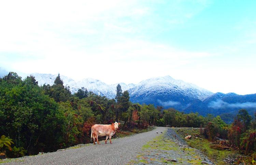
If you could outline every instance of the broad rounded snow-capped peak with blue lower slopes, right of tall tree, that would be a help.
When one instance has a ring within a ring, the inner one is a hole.
[[[144,80],[129,89],[130,100],[139,103],[153,103],[183,110],[195,100],[204,100],[213,93],[194,84],[175,80],[170,76]]]

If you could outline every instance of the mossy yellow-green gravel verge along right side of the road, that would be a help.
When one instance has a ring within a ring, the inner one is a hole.
[[[200,150],[189,147],[172,128],[148,142],[142,149],[143,151],[137,155],[137,159],[131,161],[130,164],[214,165]]]

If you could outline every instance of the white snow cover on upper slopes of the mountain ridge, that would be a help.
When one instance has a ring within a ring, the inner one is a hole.
[[[32,75],[38,81],[39,85],[53,85],[54,80],[58,76],[57,74],[52,75],[42,73],[32,73]],[[85,87],[88,91],[91,91],[95,94],[99,94],[110,99],[115,98],[116,86],[118,83],[108,85],[100,80],[92,78],[86,78],[79,81],[75,81],[64,75],[60,75],[60,78],[63,81],[63,85],[70,86],[71,93],[75,93],[78,89]],[[129,90],[131,97],[152,95],[153,92],[165,94],[167,91],[169,93],[171,91],[183,93],[188,97],[200,100],[203,100],[212,95],[212,93],[206,89],[200,88],[194,84],[186,83],[182,80],[175,80],[170,76],[150,78],[147,80],[143,80],[138,84],[119,84],[121,85],[123,91]]]

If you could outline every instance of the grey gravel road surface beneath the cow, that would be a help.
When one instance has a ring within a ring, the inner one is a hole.
[[[166,127],[156,127],[156,129],[127,136],[123,138],[112,139],[112,143],[100,145],[89,145],[81,148],[67,149],[58,152],[44,153],[35,156],[18,158],[17,162],[5,164],[127,164],[130,160],[136,159],[138,152],[148,141],[160,135],[160,132],[167,130]],[[156,133],[158,131],[158,134]],[[20,162],[18,162],[21,160]]]

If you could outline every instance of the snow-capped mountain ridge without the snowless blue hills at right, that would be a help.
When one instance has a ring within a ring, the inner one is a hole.
[[[57,75],[32,73],[39,85],[54,83]],[[64,85],[70,87],[71,93],[75,93],[78,89],[85,87],[97,95],[105,96],[107,98],[115,98],[116,84],[108,85],[96,79],[82,79],[74,81],[71,78],[60,75]],[[122,90],[128,90],[130,93],[130,100],[132,102],[161,105],[165,108],[173,107],[178,110],[183,110],[195,100],[204,100],[213,93],[200,88],[194,84],[186,83],[181,80],[175,80],[170,76],[151,78],[141,81],[139,84],[125,84],[119,83]]]

